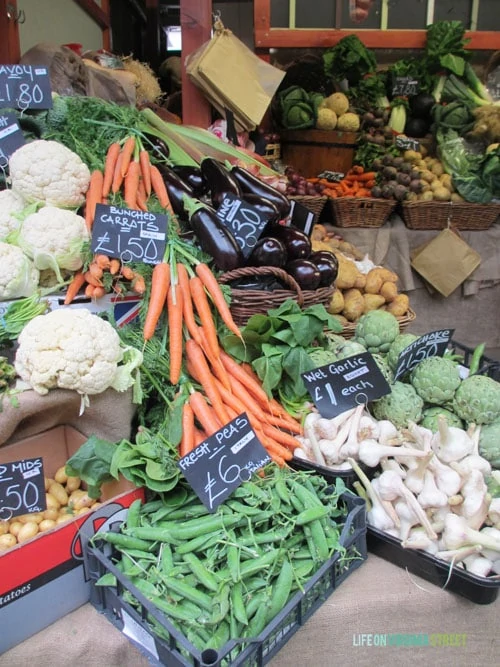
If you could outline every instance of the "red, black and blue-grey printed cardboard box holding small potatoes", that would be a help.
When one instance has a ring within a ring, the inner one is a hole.
[[[0,447],[0,465],[42,457],[48,477],[85,440],[74,428],[57,426]],[[90,599],[83,557],[86,541],[114,522],[124,521],[132,501],[144,499],[144,490],[125,479],[106,483],[102,491],[104,503],[96,510],[0,552],[0,654]]]

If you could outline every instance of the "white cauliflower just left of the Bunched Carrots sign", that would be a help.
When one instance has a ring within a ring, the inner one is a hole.
[[[60,269],[77,271],[83,265],[82,248],[89,238],[81,215],[44,206],[24,219],[13,242],[33,259],[37,269],[52,269],[62,281]]]

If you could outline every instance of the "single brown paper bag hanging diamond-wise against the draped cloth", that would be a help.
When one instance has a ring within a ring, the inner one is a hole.
[[[481,263],[481,256],[454,230],[443,229],[411,253],[411,266],[434,289],[449,296]]]

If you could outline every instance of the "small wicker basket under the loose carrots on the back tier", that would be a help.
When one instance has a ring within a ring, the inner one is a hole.
[[[337,227],[382,227],[396,203],[392,199],[374,197],[330,199],[333,223]]]

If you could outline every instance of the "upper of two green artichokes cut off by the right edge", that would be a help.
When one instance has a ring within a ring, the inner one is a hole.
[[[455,392],[453,411],[468,424],[491,424],[500,418],[500,383],[470,375]]]

